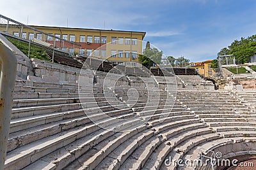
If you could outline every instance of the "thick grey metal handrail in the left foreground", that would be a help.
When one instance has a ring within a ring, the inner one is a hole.
[[[17,59],[11,50],[1,44],[0,64],[0,169],[4,169],[10,129],[13,89],[17,72]]]

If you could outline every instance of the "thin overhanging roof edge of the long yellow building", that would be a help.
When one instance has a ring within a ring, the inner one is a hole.
[[[122,31],[122,30],[113,30],[113,29],[86,29],[86,28],[77,28],[77,27],[52,27],[52,26],[41,26],[41,25],[29,25],[30,27],[42,27],[44,29],[68,29],[68,30],[84,30],[84,31],[92,31],[92,32],[123,32],[123,33],[131,33],[131,34],[141,34],[142,39],[145,37],[146,32],[142,31]]]

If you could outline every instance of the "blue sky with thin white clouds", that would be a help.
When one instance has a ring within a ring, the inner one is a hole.
[[[91,0],[1,2],[0,13],[29,25],[147,32],[165,55],[215,59],[234,39],[256,34],[255,0]],[[104,24],[105,23],[105,24]]]

